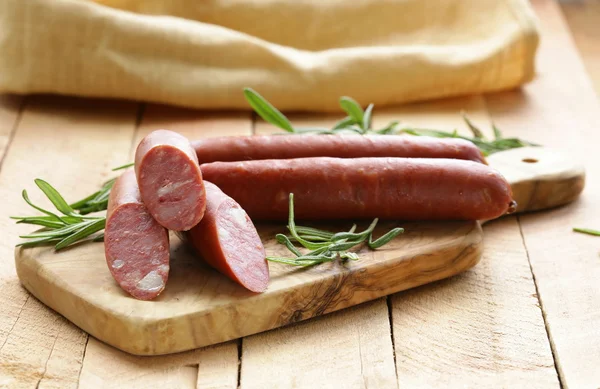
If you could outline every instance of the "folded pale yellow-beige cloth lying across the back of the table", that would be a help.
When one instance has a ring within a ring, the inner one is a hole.
[[[0,91],[338,111],[519,86],[538,39],[527,0],[2,0]]]

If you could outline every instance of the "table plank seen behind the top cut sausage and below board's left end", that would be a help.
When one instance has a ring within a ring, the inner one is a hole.
[[[132,138],[129,160],[135,145],[149,132],[165,128],[189,139],[200,136],[249,135],[250,113],[193,111],[149,104]],[[179,353],[173,357],[136,357],[95,339],[88,343],[80,388],[231,388],[238,384],[240,341]]]

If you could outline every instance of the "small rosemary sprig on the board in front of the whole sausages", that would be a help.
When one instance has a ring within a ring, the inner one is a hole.
[[[338,258],[342,261],[356,261],[359,259],[358,255],[348,250],[363,243],[366,243],[371,249],[376,249],[389,243],[404,232],[403,228],[394,228],[380,238],[373,240],[373,230],[377,222],[378,219],[373,220],[371,225],[362,232],[355,232],[356,224],[349,231],[338,233],[297,226],[294,221],[294,194],[290,193],[287,226],[290,235],[277,234],[275,238],[279,244],[285,245],[294,254],[294,257],[267,257],[267,260],[294,266],[313,266],[331,262]],[[299,248],[294,246],[293,242],[310,251],[303,254]]]

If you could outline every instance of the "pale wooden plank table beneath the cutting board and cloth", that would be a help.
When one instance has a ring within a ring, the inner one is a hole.
[[[538,77],[522,90],[394,109],[417,125],[452,129],[460,110],[482,126],[576,151],[588,182],[579,201],[485,225],[472,270],[283,329],[191,352],[134,357],[89,337],[19,284],[9,215],[29,212],[45,178],[71,199],[131,160],[144,134],[190,137],[269,132],[250,113],[208,113],[122,101],[0,97],[0,387],[396,388],[600,387],[600,111],[592,84],[550,0],[541,19]],[[292,115],[298,122],[336,118]],[[35,195],[34,195],[35,194]]]

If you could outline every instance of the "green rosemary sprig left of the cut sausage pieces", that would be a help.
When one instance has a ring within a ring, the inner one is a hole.
[[[56,250],[68,247],[85,239],[98,239],[94,234],[103,230],[106,218],[103,216],[84,216],[70,206],[63,196],[49,183],[39,178],[35,184],[46,195],[56,210],[62,215],[39,207],[31,202],[26,190],[23,190],[23,199],[34,209],[45,216],[11,216],[18,224],[33,224],[42,226],[41,229],[29,235],[21,235],[27,239],[17,246],[33,247],[53,244]]]

